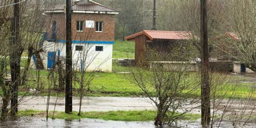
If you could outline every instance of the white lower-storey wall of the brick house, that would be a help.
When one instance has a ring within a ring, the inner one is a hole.
[[[76,51],[75,46],[83,46],[82,51]],[[96,46],[103,46],[103,51],[96,51]],[[45,69],[47,68],[47,52],[60,50],[60,57],[65,58],[66,46],[64,43],[44,42],[45,55],[41,55]],[[112,44],[72,44],[73,69],[80,70],[81,62],[84,61],[83,69],[86,71],[112,72]],[[83,60],[83,61],[81,61]]]

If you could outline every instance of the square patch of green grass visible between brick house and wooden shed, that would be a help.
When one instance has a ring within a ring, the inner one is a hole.
[[[135,43],[115,41],[113,44],[113,58],[134,58]]]

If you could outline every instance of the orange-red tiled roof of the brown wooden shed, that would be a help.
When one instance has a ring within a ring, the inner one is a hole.
[[[133,39],[137,36],[145,35],[149,37],[151,40],[153,39],[191,39],[191,32],[186,31],[153,31],[153,30],[144,30],[142,32],[136,33],[131,36],[125,37],[125,40]]]

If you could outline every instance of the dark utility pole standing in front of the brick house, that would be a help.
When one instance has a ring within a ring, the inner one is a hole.
[[[66,0],[66,89],[65,113],[72,112],[72,35],[71,0]]]

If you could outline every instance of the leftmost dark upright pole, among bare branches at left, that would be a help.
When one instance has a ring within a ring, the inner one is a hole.
[[[12,19],[11,29],[11,50],[10,50],[10,68],[11,68],[11,116],[15,117],[18,112],[18,85],[20,84],[21,73],[21,45],[19,39],[19,0],[14,0],[14,18]]]

